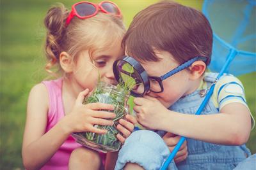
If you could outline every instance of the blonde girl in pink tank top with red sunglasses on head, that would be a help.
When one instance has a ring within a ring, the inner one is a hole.
[[[50,72],[56,66],[61,77],[31,89],[22,159],[26,169],[68,169],[70,153],[81,146],[70,136],[72,132],[104,134],[105,130],[93,125],[113,125],[109,119],[115,114],[100,111],[113,110],[113,106],[82,102],[99,76],[115,83],[112,65],[124,52],[121,41],[125,28],[120,10],[109,1],[76,3],[70,12],[61,4],[48,11],[44,22],[46,69]],[[125,118],[118,130],[127,138],[136,120],[130,115]],[[120,134],[117,138],[122,143],[125,140]],[[86,151],[86,169],[99,169],[99,154]]]

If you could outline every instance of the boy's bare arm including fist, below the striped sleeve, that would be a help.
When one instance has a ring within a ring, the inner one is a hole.
[[[230,103],[220,113],[188,115],[164,108],[157,99],[147,96],[134,99],[138,122],[180,136],[221,145],[241,145],[250,136],[250,111],[244,104]]]

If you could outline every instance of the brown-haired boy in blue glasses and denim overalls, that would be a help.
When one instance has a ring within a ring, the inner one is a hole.
[[[215,82],[218,74],[204,73],[211,61],[212,29],[200,11],[172,1],[152,4],[134,17],[123,43],[150,82],[148,91],[137,88],[145,96],[134,99],[133,109],[138,122],[157,133],[133,132],[118,154],[116,170],[160,169],[175,134],[188,138],[188,157],[168,168],[234,169],[250,156],[244,143],[254,120],[243,85],[230,74]],[[212,83],[210,101],[195,115]],[[248,166],[255,167],[253,159]]]

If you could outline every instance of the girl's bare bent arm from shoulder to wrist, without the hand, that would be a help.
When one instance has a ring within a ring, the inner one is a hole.
[[[45,134],[48,111],[47,89],[38,84],[29,94],[22,159],[26,169],[39,169],[60,148],[69,132],[56,124]]]

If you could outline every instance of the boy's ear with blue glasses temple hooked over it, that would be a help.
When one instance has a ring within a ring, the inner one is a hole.
[[[189,67],[190,69],[190,79],[191,80],[196,80],[204,74],[204,71],[206,69],[206,64],[202,60],[197,60],[193,62],[193,64]]]

